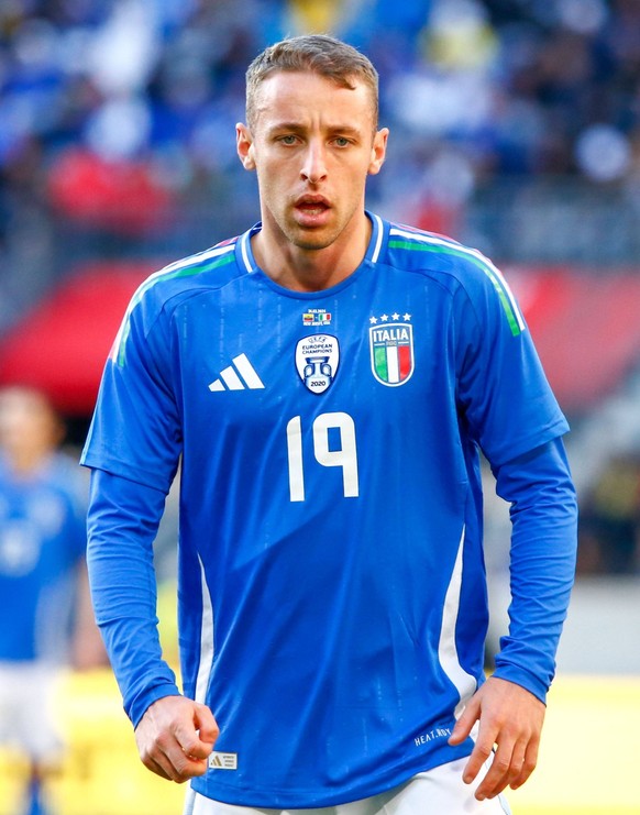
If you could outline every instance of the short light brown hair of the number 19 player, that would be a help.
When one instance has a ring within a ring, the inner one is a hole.
[[[355,88],[361,80],[371,90],[374,129],[378,123],[378,73],[372,62],[352,45],[327,34],[305,34],[269,45],[246,70],[246,123],[257,115],[261,82],[277,70],[310,71],[331,79],[341,88]]]

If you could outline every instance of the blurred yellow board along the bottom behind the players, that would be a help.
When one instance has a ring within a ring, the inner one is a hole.
[[[57,713],[68,739],[49,783],[54,815],[179,815],[186,792],[146,770],[108,669],[70,674]],[[540,763],[509,791],[514,815],[640,815],[640,678],[560,676]],[[15,815],[23,762],[0,753],[0,815]]]

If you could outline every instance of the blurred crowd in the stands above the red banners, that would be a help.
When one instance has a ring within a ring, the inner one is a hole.
[[[394,217],[454,232],[505,176],[640,199],[640,0],[3,0],[0,327],[60,271],[52,216],[104,251],[189,213],[214,214],[209,242],[254,218],[233,139],[244,70],[308,31],[380,71],[390,168],[372,195]]]

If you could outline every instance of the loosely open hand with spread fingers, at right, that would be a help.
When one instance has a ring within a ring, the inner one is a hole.
[[[507,786],[516,790],[531,775],[538,763],[545,709],[529,691],[495,676],[471,697],[449,744],[462,744],[479,722],[477,740],[462,775],[466,784],[483,769],[494,745],[497,747],[490,769],[475,791],[478,801],[493,799]]]

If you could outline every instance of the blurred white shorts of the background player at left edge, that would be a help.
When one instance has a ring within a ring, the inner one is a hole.
[[[53,715],[59,669],[42,662],[0,662],[0,745],[37,763],[55,763],[63,741]]]

